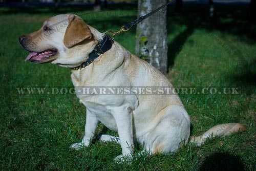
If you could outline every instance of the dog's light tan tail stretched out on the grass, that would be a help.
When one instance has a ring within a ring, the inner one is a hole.
[[[219,124],[211,127],[211,129],[198,137],[191,137],[190,143],[195,143],[200,146],[206,141],[207,138],[224,137],[232,133],[238,133],[245,130],[245,127],[240,123]]]

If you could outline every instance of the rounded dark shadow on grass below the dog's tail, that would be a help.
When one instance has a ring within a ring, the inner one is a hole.
[[[244,164],[238,156],[228,153],[215,153],[204,160],[200,171],[242,171],[245,170]]]

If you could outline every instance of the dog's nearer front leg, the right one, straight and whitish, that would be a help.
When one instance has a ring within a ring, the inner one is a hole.
[[[133,112],[127,106],[122,106],[114,110],[113,117],[116,121],[117,131],[120,138],[120,145],[122,147],[122,155],[117,156],[115,160],[132,158],[133,154]]]

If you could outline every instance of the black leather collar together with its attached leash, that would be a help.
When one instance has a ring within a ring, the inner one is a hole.
[[[79,70],[79,69],[82,69],[84,67],[87,67],[89,66],[93,61],[94,59],[96,59],[97,57],[99,57],[101,54],[105,53],[106,51],[110,50],[111,47],[112,47],[112,44],[114,43],[114,38],[115,38],[115,35],[116,34],[119,34],[121,32],[125,32],[125,31],[128,31],[129,29],[131,29],[132,27],[136,26],[137,24],[139,24],[140,22],[142,22],[142,20],[146,19],[147,17],[153,15],[154,13],[156,13],[157,11],[159,11],[160,9],[166,7],[167,5],[169,5],[170,3],[172,3],[173,0],[171,0],[170,2],[166,3],[165,5],[157,8],[156,10],[146,14],[146,15],[143,15],[137,19],[135,19],[133,22],[131,23],[128,23],[124,26],[121,27],[121,29],[117,32],[113,32],[111,30],[108,30],[104,33],[104,37],[102,38],[102,40],[95,46],[94,48],[94,51],[91,52],[89,54],[89,58],[83,62],[80,66],[78,67],[74,67],[74,68],[71,68],[72,70]],[[111,35],[113,36],[112,38],[110,37],[109,34],[106,34],[110,32]]]

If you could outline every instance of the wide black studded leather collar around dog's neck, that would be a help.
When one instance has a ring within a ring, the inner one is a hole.
[[[72,70],[80,70],[84,67],[87,67],[101,54],[105,53],[106,51],[110,50],[112,47],[112,44],[114,43],[114,40],[106,34],[102,38],[102,40],[95,46],[94,50],[89,54],[89,58],[83,62],[80,66],[71,68]]]

